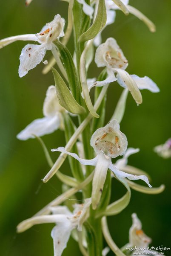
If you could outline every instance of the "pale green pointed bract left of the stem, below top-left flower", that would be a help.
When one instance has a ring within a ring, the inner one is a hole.
[[[52,72],[54,75],[54,81],[56,86],[57,99],[60,105],[65,108],[67,111],[73,114],[82,114],[85,112],[85,109],[81,107],[72,94],[70,93],[66,83],[63,81],[60,74],[52,67]]]

